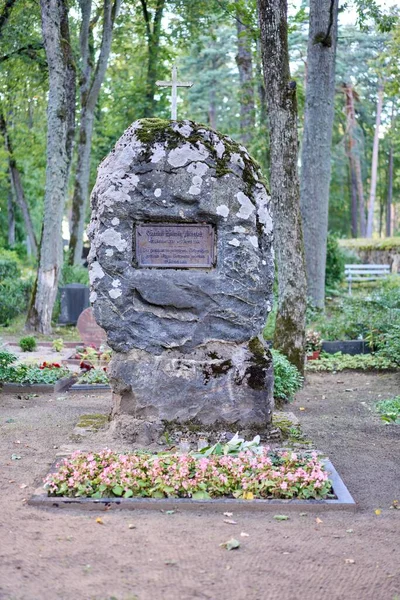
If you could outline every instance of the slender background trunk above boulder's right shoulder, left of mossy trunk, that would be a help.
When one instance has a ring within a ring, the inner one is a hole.
[[[253,85],[253,57],[251,36],[248,28],[240,19],[240,11],[236,13],[237,43],[236,64],[239,71],[239,103],[240,103],[240,138],[244,146],[249,147],[255,128],[255,106]]]

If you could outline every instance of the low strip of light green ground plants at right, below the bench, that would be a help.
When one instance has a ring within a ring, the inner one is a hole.
[[[309,360],[306,364],[307,371],[316,372],[336,372],[355,370],[355,371],[393,371],[398,365],[389,358],[378,356],[377,354],[322,354],[318,360]]]

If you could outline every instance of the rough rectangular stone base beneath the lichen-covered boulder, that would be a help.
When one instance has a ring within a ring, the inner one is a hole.
[[[142,432],[144,423],[149,431],[156,423],[164,429],[194,423],[203,431],[216,426],[265,431],[271,423],[272,358],[259,338],[242,344],[209,342],[187,354],[131,350],[114,356],[109,373],[113,417],[121,433],[127,421],[130,429],[142,424]],[[157,426],[149,442],[160,433]]]

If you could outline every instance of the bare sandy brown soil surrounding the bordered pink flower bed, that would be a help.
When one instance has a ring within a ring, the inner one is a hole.
[[[0,393],[0,599],[400,600],[400,510],[390,508],[400,500],[400,427],[374,412],[399,389],[400,374],[313,374],[289,407],[331,458],[356,513],[299,510],[277,521],[278,508],[233,511],[237,524],[222,511],[28,506],[58,452],[111,445],[106,432],[74,432],[81,415],[108,414],[111,398]],[[228,552],[220,544],[231,537],[240,548]]]

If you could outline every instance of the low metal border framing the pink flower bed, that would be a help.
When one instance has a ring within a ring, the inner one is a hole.
[[[50,473],[54,473],[61,458],[60,455],[53,463]],[[271,511],[285,509],[290,511],[301,510],[307,512],[326,510],[356,510],[357,504],[353,500],[342,478],[327,458],[322,459],[325,469],[330,474],[335,499],[328,500],[285,500],[274,498],[271,500],[237,500],[236,498],[213,498],[211,500],[193,500],[192,498],[69,498],[66,496],[48,496],[43,487],[35,490],[28,504],[39,508],[64,508],[81,509],[87,511],[119,510],[175,510],[175,511]]]

